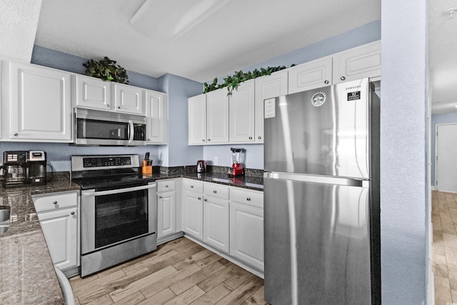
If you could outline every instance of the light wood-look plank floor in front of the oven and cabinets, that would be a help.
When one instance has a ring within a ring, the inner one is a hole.
[[[263,279],[184,237],[70,283],[76,304],[266,304]]]

